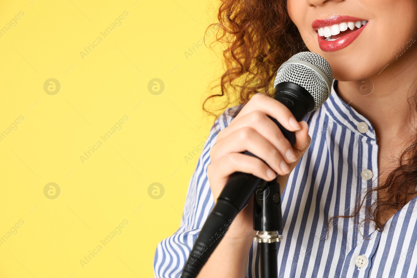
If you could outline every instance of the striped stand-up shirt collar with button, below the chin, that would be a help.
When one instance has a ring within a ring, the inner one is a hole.
[[[325,110],[327,110],[332,119],[338,124],[344,125],[358,135],[376,140],[375,130],[371,122],[337,95],[336,90],[334,89],[336,86],[337,80],[334,79],[332,92],[330,93],[329,98],[323,103]],[[365,133],[362,133],[359,130],[364,131],[364,128],[366,127],[365,124],[367,125],[368,130]]]

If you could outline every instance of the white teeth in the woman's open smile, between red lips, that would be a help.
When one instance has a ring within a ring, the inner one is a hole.
[[[335,41],[339,38],[342,38],[345,35],[348,35],[356,30],[362,28],[366,25],[368,20],[358,20],[358,21],[347,21],[340,24],[334,24],[332,26],[326,26],[318,28],[316,31],[320,37],[323,37],[325,41]]]

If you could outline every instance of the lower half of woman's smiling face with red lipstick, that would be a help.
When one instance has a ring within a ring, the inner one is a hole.
[[[307,48],[329,61],[337,80],[368,78],[415,57],[416,0],[288,0],[287,8]]]

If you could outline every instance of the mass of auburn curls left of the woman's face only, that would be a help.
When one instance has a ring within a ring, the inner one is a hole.
[[[225,105],[215,110],[223,111],[232,96],[245,103],[255,93],[269,93],[279,66],[297,49],[306,51],[289,18],[286,0],[222,0],[217,18],[219,23],[208,26],[206,32],[216,28],[215,42],[226,46],[226,71],[221,76],[221,93],[203,103],[203,109],[211,114],[206,109],[211,98],[226,97]]]

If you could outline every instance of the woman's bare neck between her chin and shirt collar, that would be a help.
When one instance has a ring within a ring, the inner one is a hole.
[[[366,80],[338,82],[339,97],[372,123],[377,138],[404,142],[415,132],[417,51],[408,51]]]

